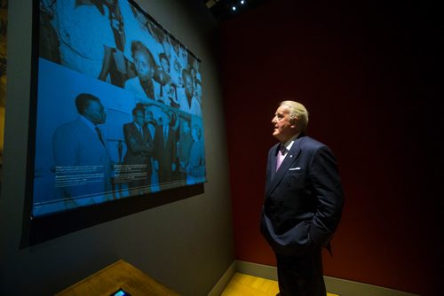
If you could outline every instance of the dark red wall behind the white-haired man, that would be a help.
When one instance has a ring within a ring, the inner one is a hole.
[[[258,221],[270,121],[289,96],[309,110],[308,134],[335,152],[345,189],[325,275],[435,295],[443,126],[433,7],[359,3],[271,0],[222,23],[236,259],[275,265]]]

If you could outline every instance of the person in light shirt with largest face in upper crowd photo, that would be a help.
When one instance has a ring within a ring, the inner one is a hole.
[[[151,51],[143,43],[134,41],[131,53],[137,76],[125,82],[125,90],[134,92],[138,103],[148,104],[149,99],[159,99],[160,84],[153,79],[156,66]]]

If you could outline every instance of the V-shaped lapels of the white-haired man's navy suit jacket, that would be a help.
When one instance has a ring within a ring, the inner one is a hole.
[[[281,183],[282,178],[288,174],[289,167],[297,160],[297,157],[299,156],[299,153],[301,152],[301,137],[298,137],[293,145],[291,146],[291,149],[287,153],[287,156],[281,163],[281,167],[276,171],[276,159],[277,159],[277,152],[273,153],[272,157],[272,178],[270,186],[268,187],[268,190],[266,191],[266,196],[270,195],[274,189]],[[279,144],[276,146],[276,150],[278,149]]]

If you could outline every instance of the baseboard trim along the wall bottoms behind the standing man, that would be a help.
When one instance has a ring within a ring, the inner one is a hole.
[[[234,273],[241,272],[254,277],[277,280],[277,271],[273,266],[252,263],[247,261],[233,261],[218,283],[214,286],[208,296],[219,296],[224,292],[226,284],[230,282]],[[362,284],[336,277],[324,277],[327,291],[340,296],[418,296],[417,294],[402,292],[373,284]]]

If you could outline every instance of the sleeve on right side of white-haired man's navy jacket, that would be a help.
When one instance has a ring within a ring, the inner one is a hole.
[[[317,199],[309,234],[314,245],[327,245],[337,229],[344,206],[337,160],[329,147],[322,146],[313,154],[309,171]]]

